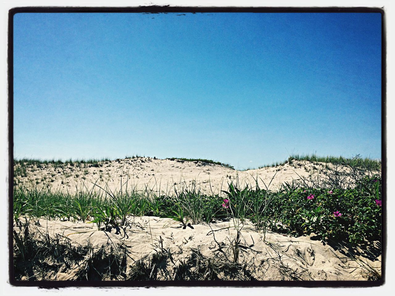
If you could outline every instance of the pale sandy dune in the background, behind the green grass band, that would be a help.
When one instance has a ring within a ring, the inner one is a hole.
[[[207,193],[217,193],[228,188],[228,182],[238,178],[241,184],[255,186],[255,180],[261,188],[266,184],[276,187],[282,182],[316,174],[325,168],[324,163],[314,164],[308,161],[293,161],[279,167],[266,167],[246,171],[232,170],[220,165],[212,165],[200,161],[180,161],[169,159],[153,159],[139,157],[134,159],[117,159],[104,161],[98,167],[89,164],[32,165],[26,169],[26,177],[17,177],[17,184],[38,184],[51,186],[73,192],[76,188],[92,188],[94,183],[101,187],[108,186],[112,191],[136,186],[144,189],[148,186],[157,193],[167,192],[174,187],[196,184]],[[273,180],[272,180],[273,178]],[[99,187],[96,186],[96,189]]]

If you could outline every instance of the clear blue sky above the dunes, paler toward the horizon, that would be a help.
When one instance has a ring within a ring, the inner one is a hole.
[[[19,13],[14,157],[381,158],[379,13]]]

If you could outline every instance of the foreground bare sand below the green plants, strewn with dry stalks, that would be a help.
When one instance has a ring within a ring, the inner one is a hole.
[[[126,274],[130,274],[134,268],[139,268],[136,263],[138,260],[154,254],[163,254],[161,261],[156,261],[156,264],[160,265],[160,270],[155,275],[156,279],[175,279],[177,272],[182,270],[177,267],[180,264],[195,262],[192,261],[194,256],[200,256],[199,264],[210,260],[218,279],[243,279],[246,275],[243,272],[225,272],[224,266],[233,264],[231,245],[234,245],[236,230],[235,222],[232,220],[193,225],[194,229],[183,229],[178,222],[169,218],[130,217],[130,222],[131,226],[105,232],[98,230],[94,224],[40,219],[39,223],[30,224],[30,230],[48,233],[52,238],[67,238],[74,246],[91,244],[92,254],[101,247],[111,249],[110,252],[123,250],[126,252]],[[14,229],[19,231],[18,227]],[[344,249],[335,250],[310,237],[292,238],[276,233],[263,234],[256,232],[249,224],[244,225],[240,233],[241,246],[237,261],[239,266],[246,264],[248,277],[276,281],[366,280],[366,270],[350,256],[345,257]],[[371,247],[374,247],[374,244],[371,244]],[[365,254],[357,258],[368,262],[381,273],[381,256]],[[146,260],[152,260],[152,257]],[[83,271],[85,263],[77,262],[67,268],[55,268],[57,271],[41,276],[51,280],[75,279],[77,274]],[[193,272],[194,268],[197,268],[195,265],[196,262],[191,263],[187,271]],[[221,265],[222,267],[215,268]],[[149,266],[154,268],[152,263]],[[201,275],[204,276],[204,273]]]

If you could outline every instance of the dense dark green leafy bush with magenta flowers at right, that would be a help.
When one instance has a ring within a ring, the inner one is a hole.
[[[382,208],[380,180],[367,180],[368,189],[283,188],[274,195],[273,230],[294,236],[314,233],[321,240],[352,244],[381,237]],[[306,192],[305,192],[306,191]],[[376,191],[371,195],[371,191]],[[314,199],[307,199],[309,195]],[[335,216],[339,212],[340,216]]]

